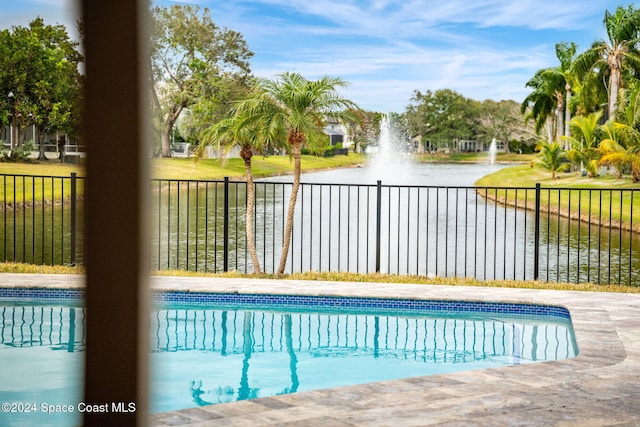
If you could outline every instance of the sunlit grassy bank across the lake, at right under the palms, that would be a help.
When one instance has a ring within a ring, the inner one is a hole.
[[[551,179],[549,171],[519,165],[487,175],[476,181],[476,186],[509,187],[481,190],[480,195],[509,206],[533,209],[535,192],[516,190],[514,187],[534,188],[536,183],[540,183],[542,188],[542,212],[640,232],[640,209],[637,208],[640,206],[640,191],[634,192],[633,197],[630,191],[616,191],[640,189],[640,185],[632,183],[630,179],[615,179],[610,175],[588,178],[579,173],[563,173],[558,179]],[[590,192],[589,189],[605,191]],[[635,210],[632,205],[636,207]]]

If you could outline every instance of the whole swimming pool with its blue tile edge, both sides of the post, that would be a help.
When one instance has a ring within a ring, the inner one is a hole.
[[[82,294],[25,292],[0,289],[0,402],[35,403],[35,413],[0,412],[0,425],[79,424]],[[154,300],[153,412],[577,355],[561,307],[171,292]],[[43,404],[75,411],[45,414]]]

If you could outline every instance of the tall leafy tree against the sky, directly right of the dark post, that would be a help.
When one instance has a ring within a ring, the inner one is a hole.
[[[173,5],[152,10],[153,100],[161,116],[161,150],[171,156],[171,131],[185,108],[216,99],[228,80],[249,78],[249,50],[242,35],[218,27],[209,9]]]

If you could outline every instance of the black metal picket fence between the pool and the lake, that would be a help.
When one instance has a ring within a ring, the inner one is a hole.
[[[82,262],[82,178],[2,184],[3,260]],[[291,183],[255,190],[258,259],[274,272]],[[154,270],[253,272],[245,182],[152,180],[151,192]],[[640,285],[638,203],[634,189],[303,183],[285,272]]]

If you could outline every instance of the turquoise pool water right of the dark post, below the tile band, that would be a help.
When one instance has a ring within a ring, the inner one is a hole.
[[[185,308],[154,313],[152,331],[158,411],[577,354],[557,318]]]

